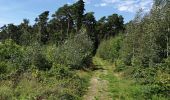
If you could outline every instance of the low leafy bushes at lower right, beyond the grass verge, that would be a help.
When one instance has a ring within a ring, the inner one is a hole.
[[[127,75],[135,79],[137,83],[148,86],[144,91],[146,98],[151,99],[152,96],[156,98],[169,98],[170,90],[170,74],[164,69],[165,64],[160,64],[156,67],[129,67],[125,71]],[[163,69],[162,69],[163,68]],[[130,70],[130,71],[129,71]]]

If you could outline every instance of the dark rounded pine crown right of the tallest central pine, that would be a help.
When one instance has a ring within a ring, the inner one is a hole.
[[[124,21],[123,17],[118,14],[112,14],[110,16],[102,17],[97,22],[97,32],[99,34],[99,40],[103,38],[107,39],[113,37],[120,32],[124,31]]]

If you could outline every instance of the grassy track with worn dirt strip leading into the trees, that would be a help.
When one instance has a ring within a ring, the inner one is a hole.
[[[90,86],[84,100],[135,100],[141,97],[141,85],[121,77],[121,73],[114,72],[114,64],[100,58],[93,59],[96,70],[90,80]]]

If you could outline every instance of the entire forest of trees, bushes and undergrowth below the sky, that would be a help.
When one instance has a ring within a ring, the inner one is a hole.
[[[94,75],[108,82],[108,98],[103,90],[85,97]],[[115,13],[96,20],[78,0],[42,12],[33,25],[0,28],[0,100],[169,100],[169,93],[169,0],[154,0],[128,23]]]

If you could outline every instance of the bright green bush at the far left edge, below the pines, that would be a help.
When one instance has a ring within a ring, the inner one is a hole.
[[[0,44],[0,73],[10,74],[22,67],[23,48],[12,40]]]

